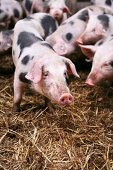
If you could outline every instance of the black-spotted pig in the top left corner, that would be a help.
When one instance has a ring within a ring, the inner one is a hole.
[[[23,10],[16,0],[1,0],[0,30],[13,28],[15,23],[23,17]]]

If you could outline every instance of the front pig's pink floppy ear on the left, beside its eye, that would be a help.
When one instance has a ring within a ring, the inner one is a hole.
[[[42,64],[35,63],[31,70],[26,74],[25,78],[33,81],[33,83],[38,83],[42,77]]]

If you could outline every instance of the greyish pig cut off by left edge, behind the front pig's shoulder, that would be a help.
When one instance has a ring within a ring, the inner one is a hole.
[[[13,43],[13,34],[13,29],[0,32],[0,54],[11,49]]]

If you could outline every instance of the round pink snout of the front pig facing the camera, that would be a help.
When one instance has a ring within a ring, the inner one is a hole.
[[[71,94],[69,93],[64,93],[59,100],[59,103],[61,105],[69,105],[74,101],[74,98]]]

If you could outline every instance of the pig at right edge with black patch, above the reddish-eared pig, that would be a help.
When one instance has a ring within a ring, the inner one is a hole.
[[[113,33],[113,15],[110,14],[92,14],[89,11],[90,17],[85,31],[77,39],[78,44],[95,44],[100,39],[107,37]]]

